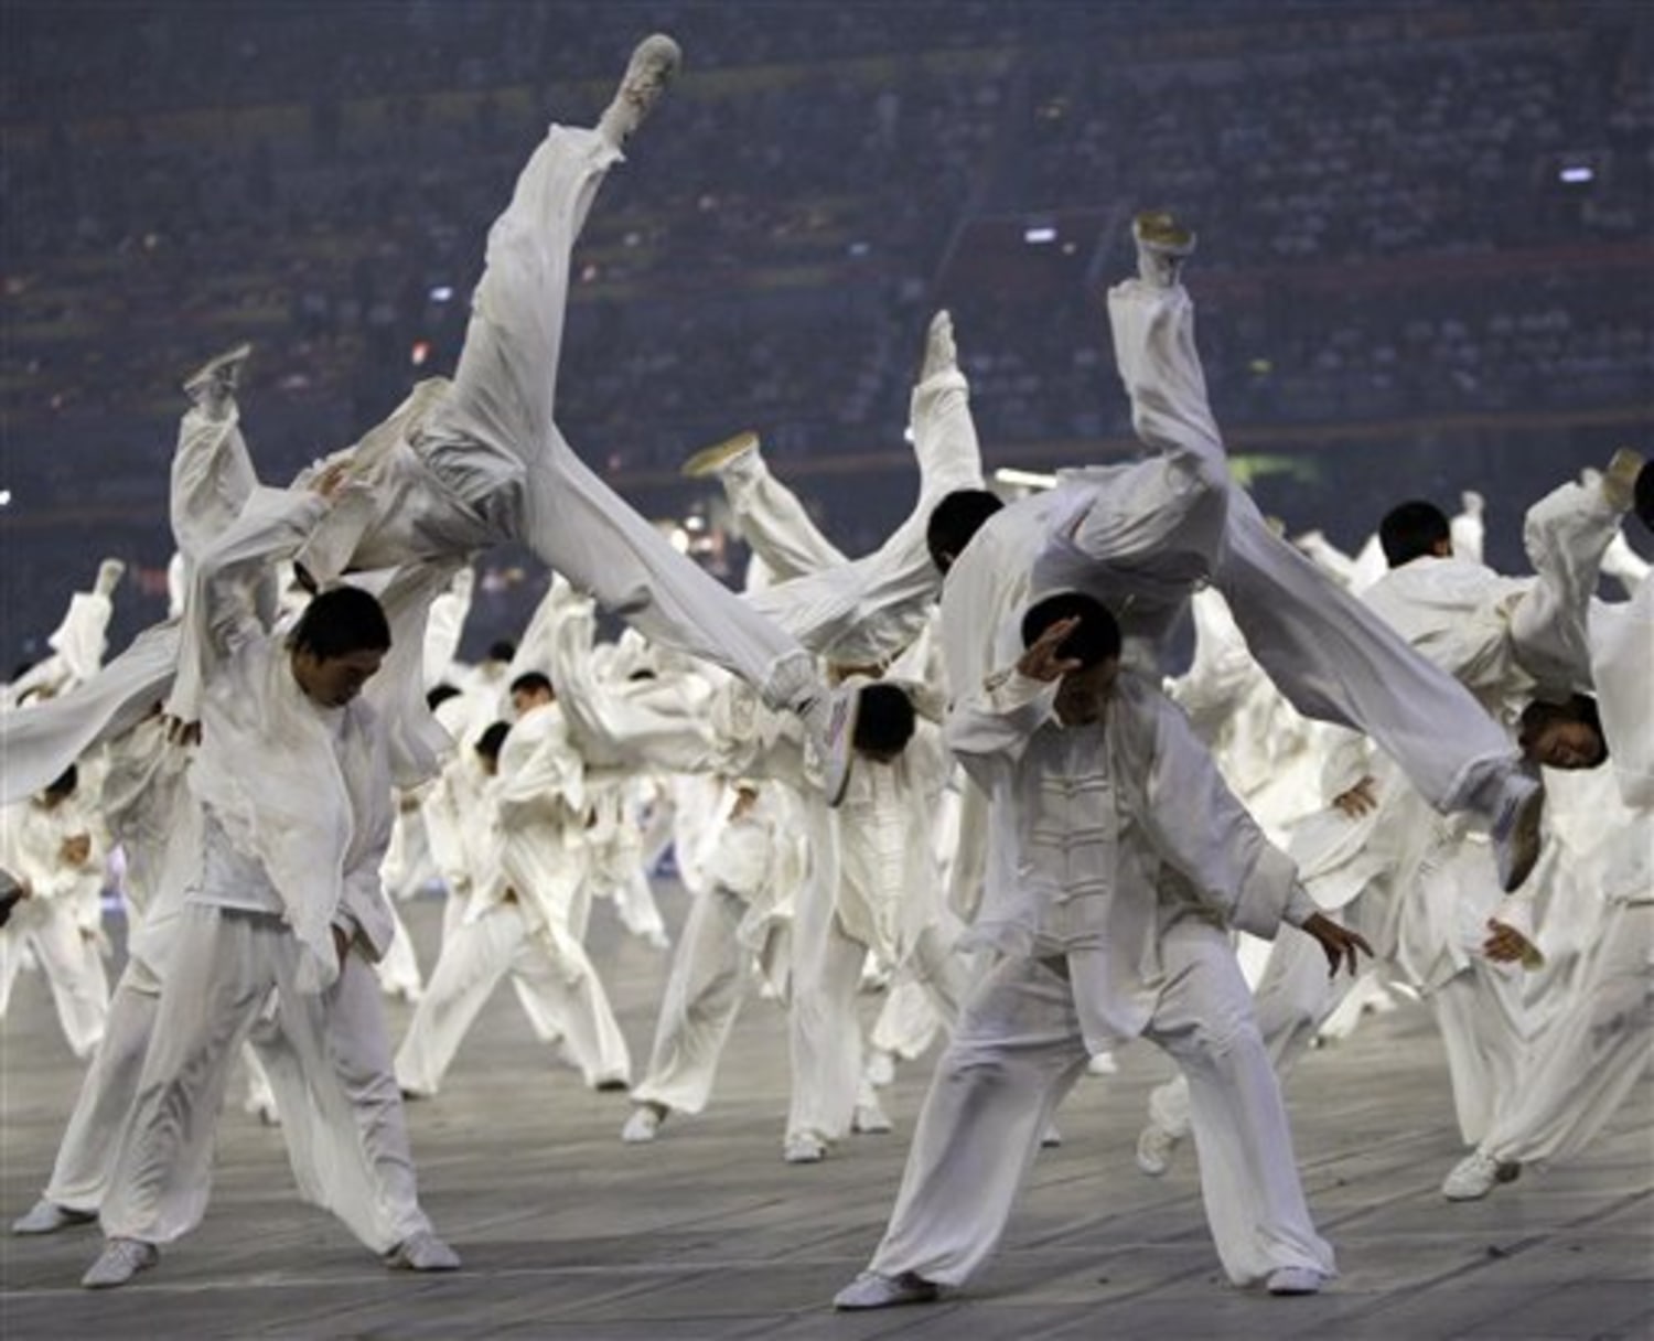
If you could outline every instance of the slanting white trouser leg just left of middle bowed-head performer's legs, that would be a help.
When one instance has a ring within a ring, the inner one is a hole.
[[[635,1103],[700,1113],[711,1096],[718,1060],[753,981],[753,956],[736,939],[746,903],[716,886],[696,893],[678,933],[660,997],[655,1043]]]

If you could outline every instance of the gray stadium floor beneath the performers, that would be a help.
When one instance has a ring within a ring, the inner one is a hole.
[[[683,903],[665,891],[668,921]],[[410,909],[427,971],[438,906]],[[592,944],[637,1065],[665,957],[615,931]],[[873,1000],[868,1000],[873,1005]],[[392,1005],[400,1030],[407,1009]],[[112,1293],[78,1288],[94,1230],[0,1238],[0,1336],[53,1338],[1034,1338],[1654,1336],[1654,1086],[1644,1081],[1589,1154],[1528,1171],[1484,1202],[1437,1194],[1457,1149],[1426,1012],[1371,1020],[1305,1060],[1288,1088],[1310,1204],[1341,1278],[1318,1298],[1229,1288],[1201,1215],[1193,1157],[1151,1181],[1131,1149],[1159,1055],[1087,1080],[999,1257],[928,1308],[835,1315],[895,1195],[928,1067],[887,1091],[895,1136],[858,1136],[827,1162],[781,1162],[786,1035],[748,1004],[721,1088],[653,1146],[622,1146],[629,1106],[552,1065],[504,989],[447,1091],[412,1106],[422,1195],[465,1270],[392,1275],[331,1217],[301,1205],[281,1136],[240,1111],[220,1128],[207,1222]],[[0,1210],[25,1210],[50,1166],[79,1068],[45,982],[18,984],[0,1024]]]

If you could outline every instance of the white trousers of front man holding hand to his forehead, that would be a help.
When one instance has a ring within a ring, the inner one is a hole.
[[[1201,1195],[1224,1272],[1237,1285],[1280,1267],[1330,1275],[1333,1252],[1310,1222],[1280,1086],[1227,936],[1183,921],[1161,956],[1169,982],[1145,1037],[1189,1076]],[[1088,1060],[1062,961],[989,969],[936,1065],[872,1268],[963,1283],[999,1243],[1040,1136]]]

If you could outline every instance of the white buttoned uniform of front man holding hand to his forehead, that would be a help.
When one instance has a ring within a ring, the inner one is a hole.
[[[949,716],[949,744],[992,797],[973,939],[997,962],[936,1067],[872,1270],[969,1277],[1090,1055],[1141,1033],[1194,1085],[1201,1186],[1229,1278],[1330,1275],[1227,941],[1229,924],[1272,936],[1313,904],[1158,691],[1123,673],[1105,719],[1075,728],[1055,721],[1055,693],[1012,671]]]

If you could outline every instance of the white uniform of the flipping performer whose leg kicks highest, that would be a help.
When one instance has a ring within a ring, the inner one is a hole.
[[[346,506],[301,557],[326,580],[523,542],[650,640],[797,708],[820,694],[807,653],[678,554],[552,417],[569,251],[620,157],[597,131],[551,127],[488,233],[453,382],[422,384],[352,450]]]

